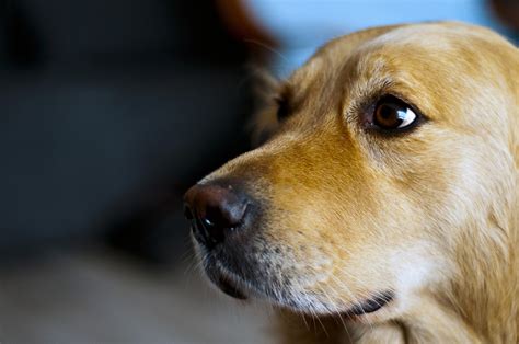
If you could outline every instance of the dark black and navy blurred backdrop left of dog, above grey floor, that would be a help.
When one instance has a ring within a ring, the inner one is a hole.
[[[245,45],[211,1],[0,1],[0,255],[185,245],[182,193],[247,146]]]

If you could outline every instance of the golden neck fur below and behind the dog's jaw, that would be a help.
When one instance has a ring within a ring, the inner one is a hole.
[[[516,172],[517,174],[517,172]],[[519,181],[508,203],[473,217],[453,249],[454,278],[424,291],[402,320],[410,343],[518,343]]]

